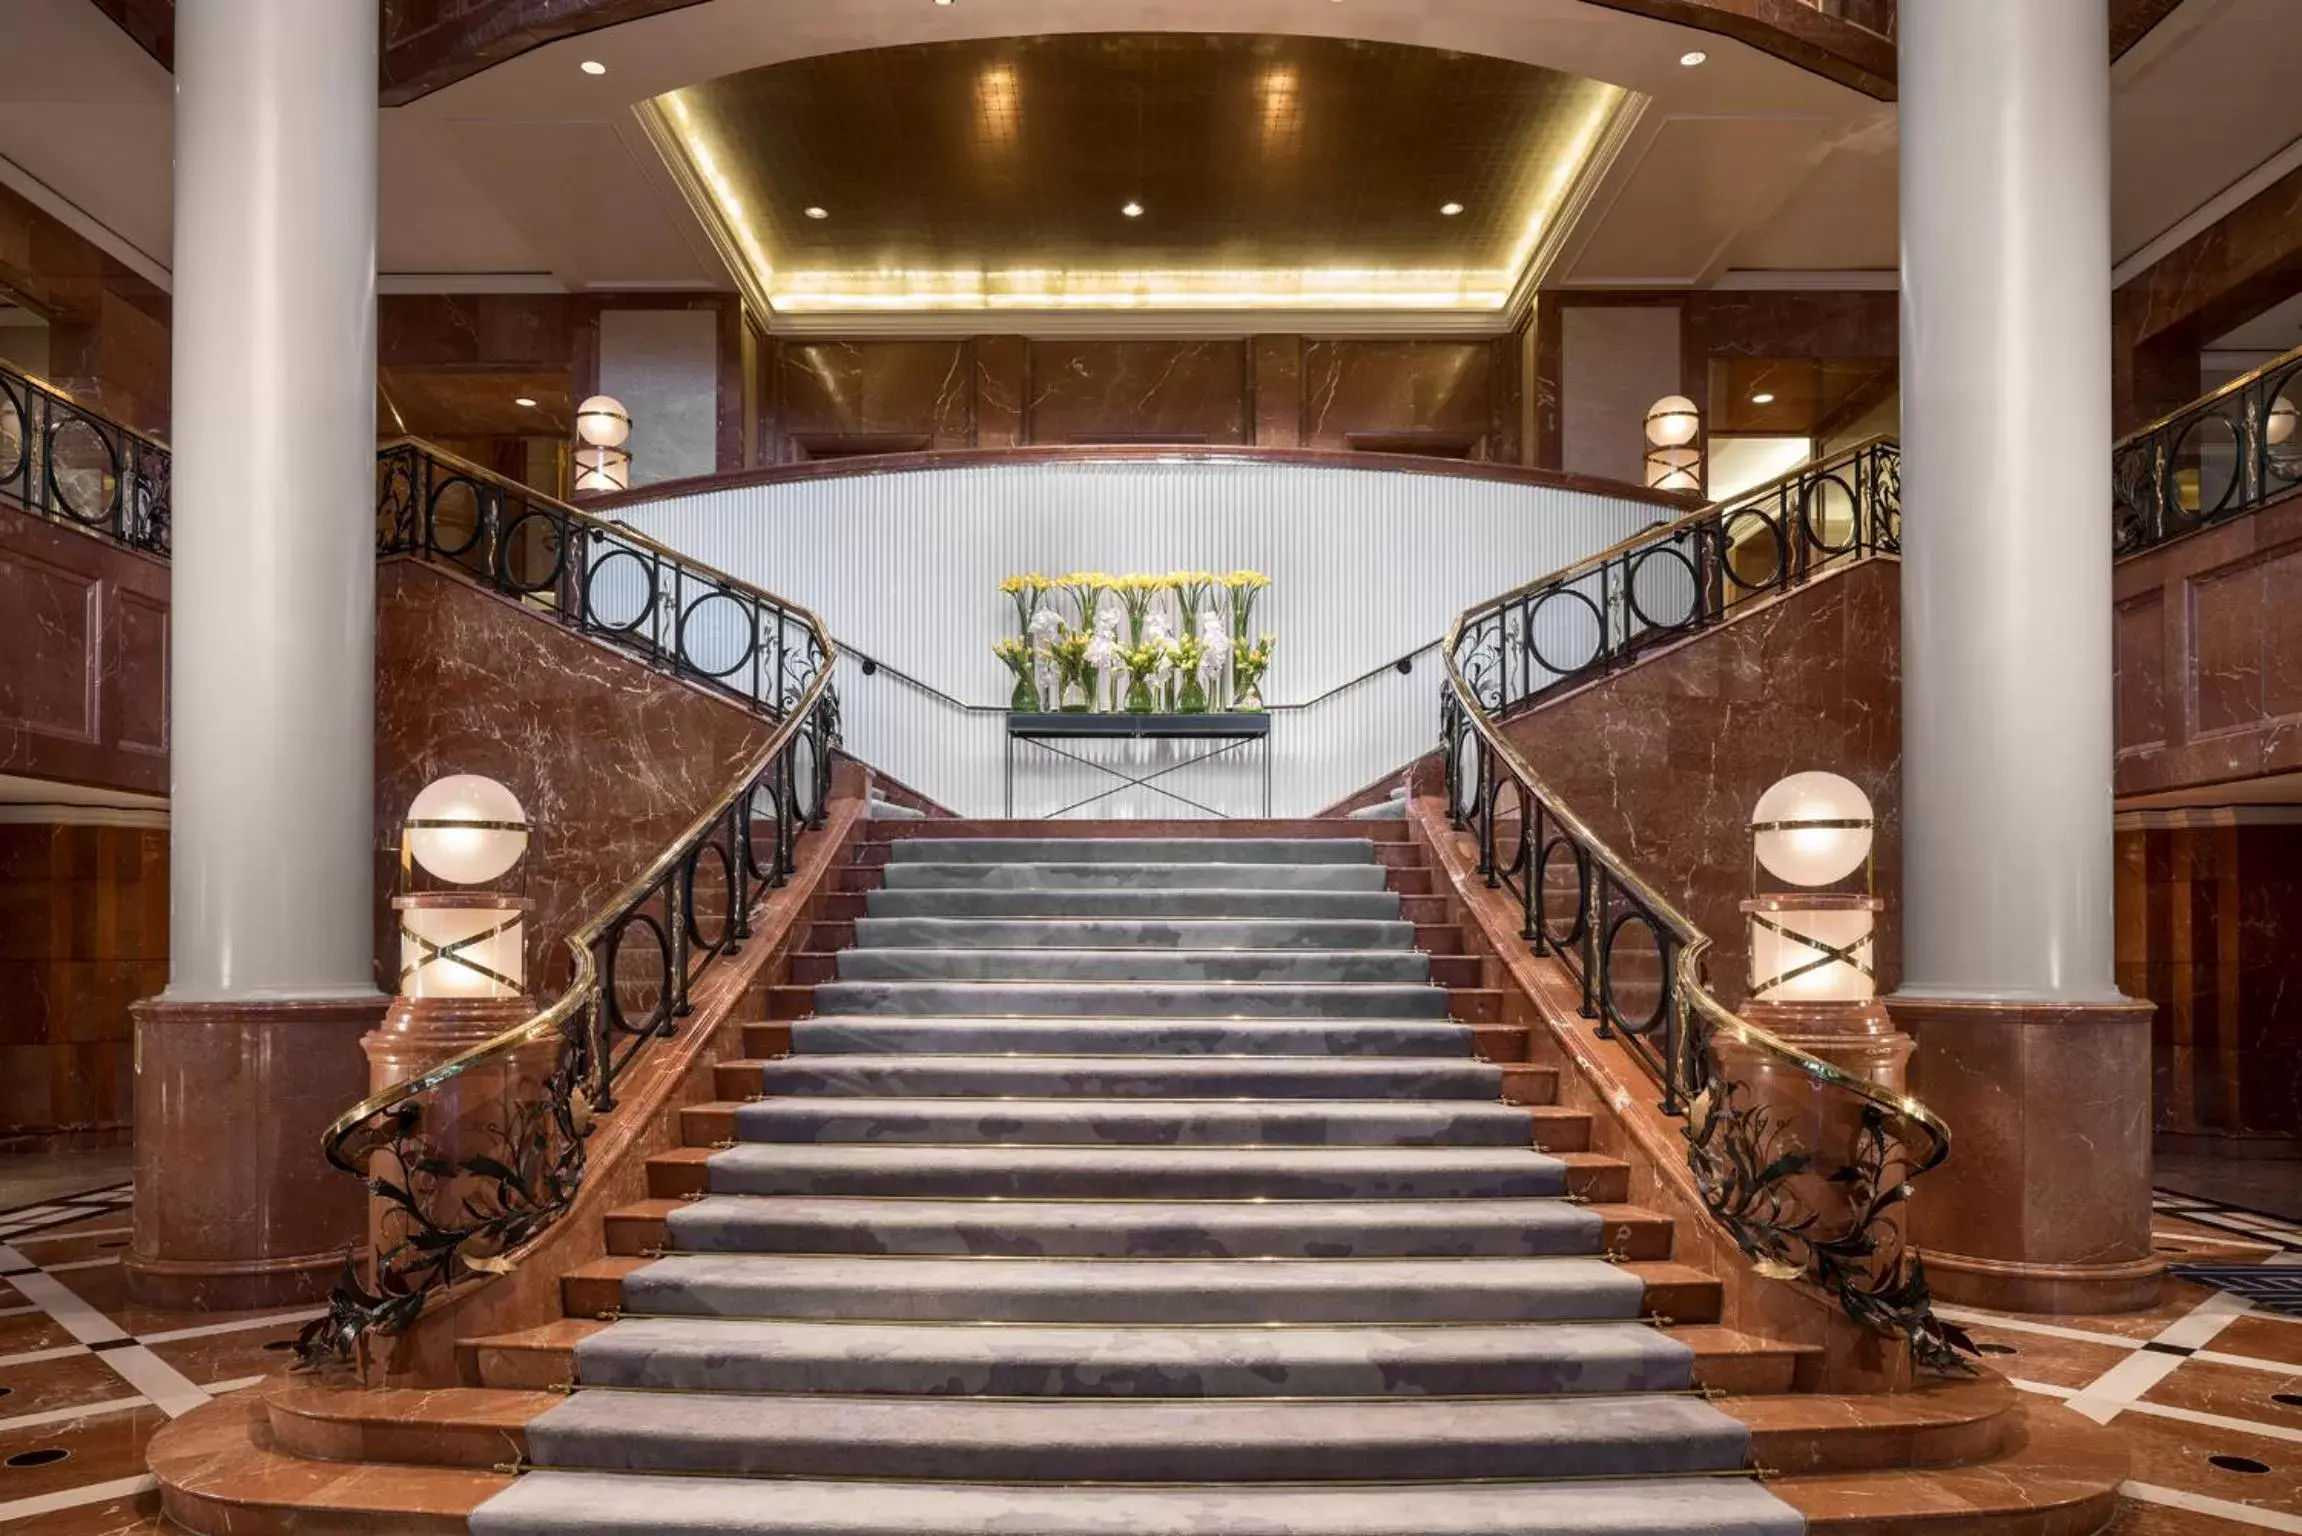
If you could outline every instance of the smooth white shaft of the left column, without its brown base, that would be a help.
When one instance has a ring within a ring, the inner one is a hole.
[[[175,14],[173,1002],[375,990],[378,28]]]

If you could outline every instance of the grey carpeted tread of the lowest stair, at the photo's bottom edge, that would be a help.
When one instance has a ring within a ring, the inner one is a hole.
[[[534,1472],[472,1536],[1802,1536],[1754,1478],[1001,1488]]]

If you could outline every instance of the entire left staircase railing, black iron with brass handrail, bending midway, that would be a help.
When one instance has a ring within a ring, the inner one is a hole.
[[[373,1269],[345,1260],[306,1363],[348,1359],[433,1297],[502,1273],[576,1200],[599,1115],[651,1041],[693,1011],[698,979],[750,937],[760,898],[824,824],[838,746],[838,647],[813,613],[642,534],[428,449],[378,461],[382,553],[453,564],[497,592],[776,721],[769,742],[645,870],[569,935],[548,1009],[345,1110],[325,1133],[373,1197]],[[707,608],[716,603],[718,608]]]

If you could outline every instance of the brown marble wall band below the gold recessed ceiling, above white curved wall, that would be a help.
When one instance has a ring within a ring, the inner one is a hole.
[[[757,339],[760,463],[1073,442],[1519,463],[1519,339]]]

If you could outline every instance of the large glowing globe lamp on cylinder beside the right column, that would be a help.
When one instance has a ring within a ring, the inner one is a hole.
[[[1869,797],[1837,774],[1791,774],[1750,813],[1754,896],[1750,999],[1754,1004],[1867,1004],[1878,990],[1874,930],[1885,907],[1872,894]],[[1761,870],[1784,887],[1761,889]],[[1825,891],[1862,873],[1860,891]]]

